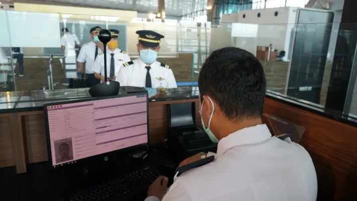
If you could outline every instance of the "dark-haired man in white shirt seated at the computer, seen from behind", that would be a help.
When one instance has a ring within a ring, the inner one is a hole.
[[[272,137],[262,124],[266,78],[253,54],[235,47],[214,51],[201,68],[198,87],[203,129],[218,143],[214,160],[175,177],[170,189],[167,177],[159,177],[146,201],[316,200],[308,152],[289,138]]]

